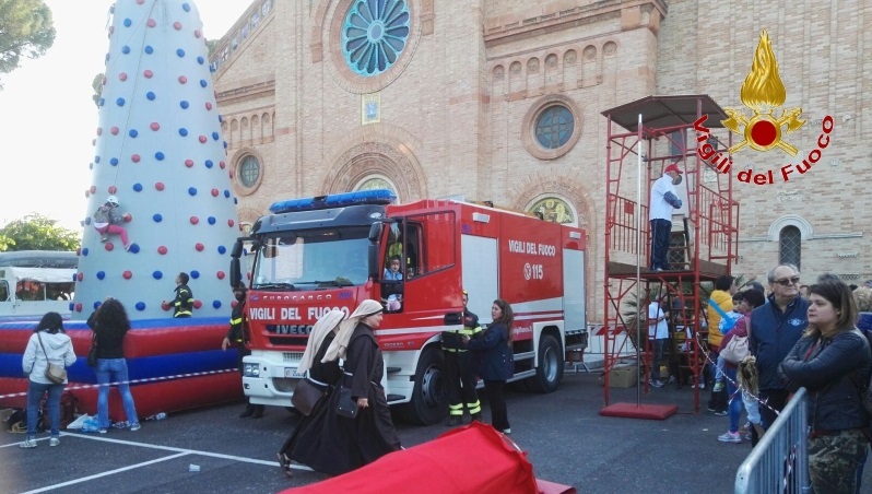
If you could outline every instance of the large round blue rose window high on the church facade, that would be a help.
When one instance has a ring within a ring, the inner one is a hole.
[[[355,0],[342,27],[345,63],[364,77],[392,66],[409,40],[406,0]]]

